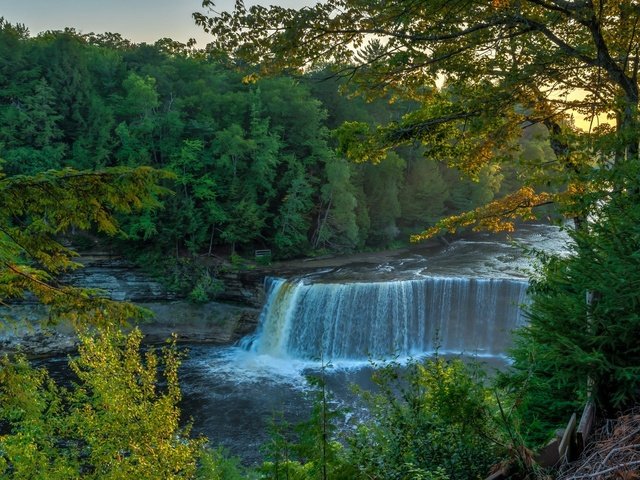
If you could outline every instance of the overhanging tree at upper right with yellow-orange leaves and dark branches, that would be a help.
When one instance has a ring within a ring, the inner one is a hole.
[[[508,158],[528,121],[555,136],[566,185],[583,180],[585,164],[637,161],[640,12],[630,0],[328,0],[300,10],[237,2],[231,13],[194,17],[217,48],[264,72],[332,63],[367,94],[392,91],[419,102],[401,121],[361,139],[364,145],[351,150],[358,160],[378,160],[380,151],[420,140],[434,157],[474,175]],[[576,92],[582,95],[572,99]],[[615,125],[568,141],[558,125],[571,109],[596,124],[611,116]],[[549,201],[571,203],[575,191],[557,196],[526,187],[428,235],[461,225],[510,229],[513,217],[530,218],[532,207]]]

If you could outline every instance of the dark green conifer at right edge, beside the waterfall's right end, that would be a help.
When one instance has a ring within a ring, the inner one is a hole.
[[[544,255],[531,282],[529,325],[512,352],[514,369],[505,383],[519,391],[527,433],[537,442],[589,397],[607,415],[640,401],[640,209],[634,192],[601,203],[597,216],[569,231],[570,255]],[[597,301],[588,303],[587,292]]]

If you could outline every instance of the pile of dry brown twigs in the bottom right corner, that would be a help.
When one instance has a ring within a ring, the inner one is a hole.
[[[610,420],[581,457],[567,464],[558,480],[640,478],[640,408]]]

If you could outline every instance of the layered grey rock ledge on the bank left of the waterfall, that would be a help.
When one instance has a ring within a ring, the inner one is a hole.
[[[155,316],[140,325],[146,341],[163,342],[172,334],[179,341],[232,344],[255,330],[264,291],[263,274],[255,271],[228,272],[221,300],[192,304],[178,299],[159,282],[130,262],[108,252],[82,255],[84,265],[61,280],[71,285],[97,288],[114,300],[125,300],[148,308]],[[0,352],[22,350],[41,356],[71,351],[77,339],[69,325],[44,326],[47,309],[27,302],[0,308]]]

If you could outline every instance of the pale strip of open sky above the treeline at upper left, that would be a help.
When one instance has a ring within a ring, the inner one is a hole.
[[[216,9],[230,10],[234,0],[216,1]],[[310,1],[270,0],[254,3],[301,7]],[[120,33],[135,43],[154,43],[169,37],[186,42],[195,38],[199,47],[208,35],[196,26],[191,14],[203,11],[202,0],[0,0],[0,16],[23,23],[31,35],[73,27],[81,33]]]

